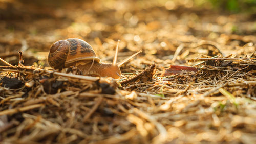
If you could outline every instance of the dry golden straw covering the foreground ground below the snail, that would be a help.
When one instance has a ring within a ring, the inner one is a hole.
[[[0,67],[15,71],[2,75],[23,82],[18,89],[1,87],[2,140],[251,143],[256,126],[255,61],[239,61],[232,62],[232,67],[243,66],[236,71],[230,66],[198,65],[197,72],[154,75],[152,81],[141,79],[119,88],[107,80],[86,81],[79,75]],[[102,84],[115,89],[115,94],[103,94]]]

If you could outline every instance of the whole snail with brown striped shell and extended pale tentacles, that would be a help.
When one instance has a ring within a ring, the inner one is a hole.
[[[48,63],[54,69],[61,70],[70,66],[76,66],[85,75],[117,79],[121,77],[119,67],[141,52],[139,51],[117,63],[118,45],[119,40],[117,42],[113,63],[102,63],[100,59],[96,57],[92,46],[86,41],[77,38],[59,40],[50,48]]]

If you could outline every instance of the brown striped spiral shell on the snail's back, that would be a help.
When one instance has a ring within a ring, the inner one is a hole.
[[[67,68],[78,61],[99,62],[90,44],[77,38],[69,38],[55,42],[48,55],[48,62],[55,69]]]

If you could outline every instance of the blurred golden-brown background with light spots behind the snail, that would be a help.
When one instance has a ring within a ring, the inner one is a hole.
[[[48,66],[51,44],[66,38],[87,41],[102,61],[111,61],[118,39],[119,59],[143,50],[144,63],[168,63],[181,43],[202,40],[226,45],[227,52],[249,43],[236,52],[243,55],[255,49],[256,1],[0,0],[0,31],[0,57],[12,64],[22,50],[25,65]]]

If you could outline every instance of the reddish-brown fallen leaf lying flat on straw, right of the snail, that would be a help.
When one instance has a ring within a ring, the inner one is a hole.
[[[165,76],[170,76],[170,75],[175,75],[175,74],[180,74],[184,73],[184,71],[190,72],[194,71],[197,72],[197,68],[191,67],[191,66],[181,66],[181,65],[170,65],[169,68],[165,68],[162,73],[162,77]]]

